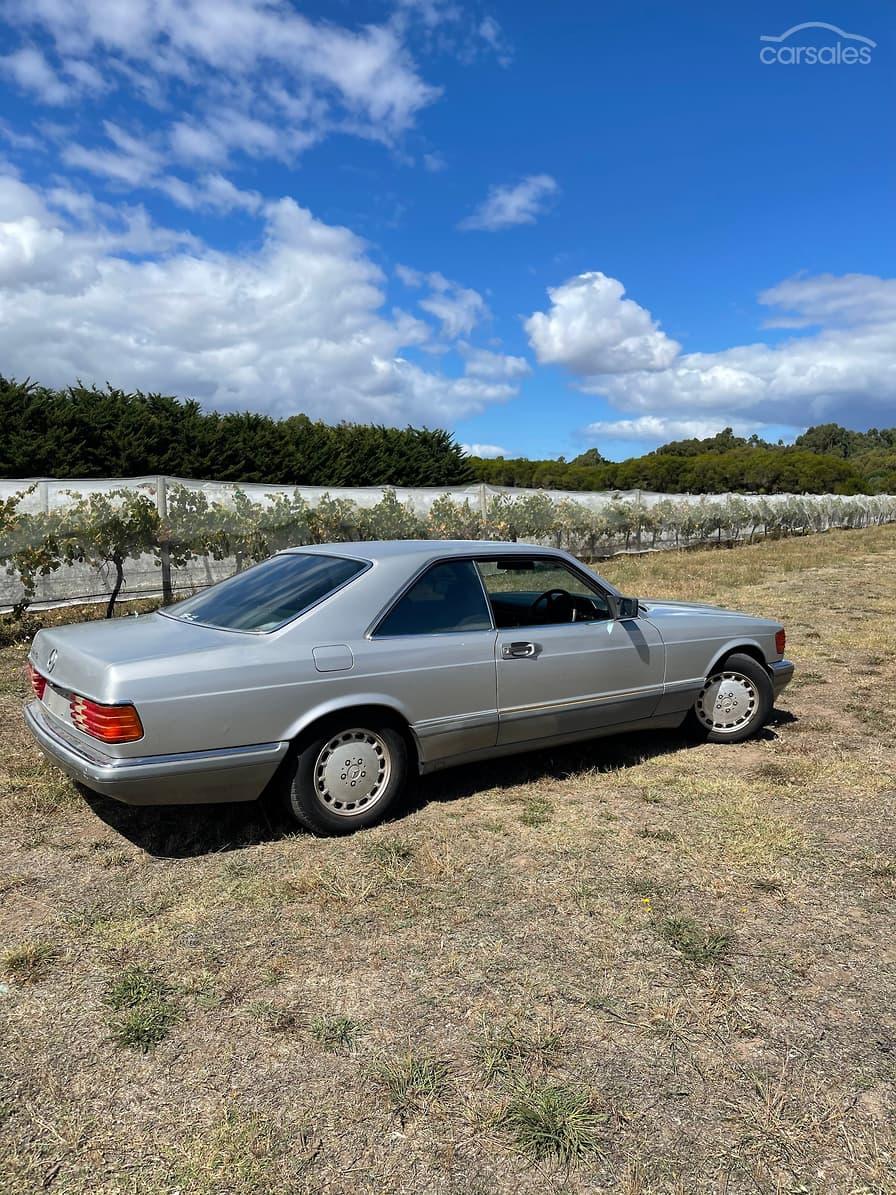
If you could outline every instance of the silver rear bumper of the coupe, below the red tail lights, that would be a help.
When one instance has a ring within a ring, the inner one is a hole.
[[[289,743],[258,743],[116,759],[92,744],[69,742],[45,716],[39,701],[25,706],[25,724],[51,764],[73,780],[129,805],[253,801],[289,749]]]

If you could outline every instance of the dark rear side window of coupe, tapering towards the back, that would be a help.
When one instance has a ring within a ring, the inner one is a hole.
[[[491,615],[471,560],[434,564],[376,627],[379,637],[490,631]]]

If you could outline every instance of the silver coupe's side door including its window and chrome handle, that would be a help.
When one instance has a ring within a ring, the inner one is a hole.
[[[600,586],[557,557],[498,557],[478,568],[497,625],[499,746],[651,716],[665,669],[651,623],[614,618]]]

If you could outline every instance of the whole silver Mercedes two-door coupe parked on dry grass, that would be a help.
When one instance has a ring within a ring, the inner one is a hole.
[[[118,801],[270,791],[342,834],[411,772],[686,719],[739,742],[793,674],[784,646],[779,623],[625,598],[552,549],[325,544],[153,614],[39,631],[25,719]]]

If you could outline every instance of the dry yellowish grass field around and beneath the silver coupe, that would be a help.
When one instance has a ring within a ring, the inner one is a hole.
[[[606,572],[783,618],[763,737],[447,772],[342,840],[85,798],[0,651],[0,1190],[896,1191],[896,528]]]

